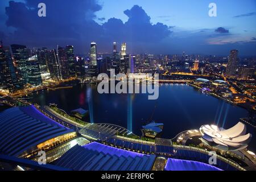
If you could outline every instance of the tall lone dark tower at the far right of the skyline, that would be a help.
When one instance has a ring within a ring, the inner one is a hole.
[[[238,50],[233,49],[230,51],[228,67],[226,68],[226,76],[236,76],[238,68]]]

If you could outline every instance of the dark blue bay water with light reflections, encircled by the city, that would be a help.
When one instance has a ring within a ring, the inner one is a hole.
[[[202,94],[186,84],[163,84],[159,86],[158,100],[148,100],[148,94],[98,94],[97,87],[77,85],[72,89],[63,89],[33,93],[30,102],[39,105],[57,104],[69,113],[82,108],[90,110],[91,121],[96,123],[113,123],[127,127],[134,134],[141,135],[141,127],[152,111],[155,122],[164,123],[164,138],[172,138],[177,133],[188,129],[199,129],[201,125],[218,123],[226,129],[236,125],[249,113],[215,97]],[[90,99],[89,99],[90,98]],[[255,129],[247,126],[254,135]],[[252,143],[255,142],[253,137]]]

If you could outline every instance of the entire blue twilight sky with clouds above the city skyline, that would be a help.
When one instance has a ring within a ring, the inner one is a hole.
[[[38,4],[46,3],[39,18]],[[209,17],[209,3],[217,17]],[[129,53],[256,55],[254,0],[1,0],[0,39],[5,45],[55,48],[76,53],[111,52],[127,43]]]

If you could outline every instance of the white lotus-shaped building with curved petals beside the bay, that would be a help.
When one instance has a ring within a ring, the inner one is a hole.
[[[228,130],[216,125],[203,125],[200,132],[204,143],[221,150],[242,150],[248,146],[251,139],[251,134],[246,134],[246,126],[242,122]]]

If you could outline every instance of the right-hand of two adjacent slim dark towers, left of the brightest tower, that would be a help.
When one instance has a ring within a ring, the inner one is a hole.
[[[66,46],[66,55],[68,60],[68,75],[69,77],[76,76],[76,63],[73,46]]]

